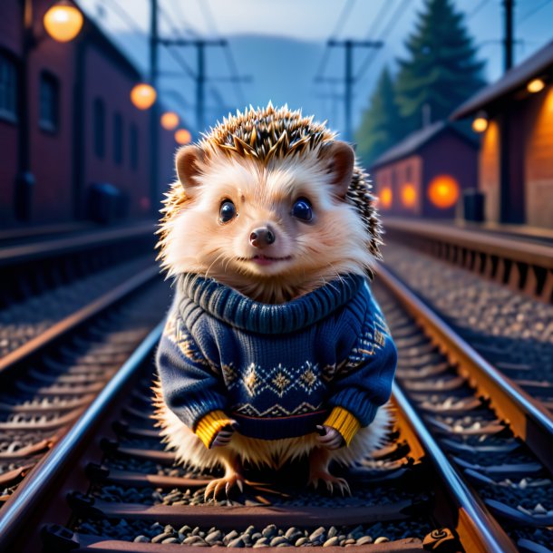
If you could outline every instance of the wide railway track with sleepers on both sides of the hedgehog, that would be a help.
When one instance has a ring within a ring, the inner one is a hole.
[[[550,413],[385,269],[374,292],[398,345],[397,423],[345,475],[353,496],[307,490],[296,464],[206,503],[217,474],[176,466],[150,419],[161,323],[131,354],[167,305],[146,273],[0,372],[18,374],[0,386],[0,550],[550,550]]]

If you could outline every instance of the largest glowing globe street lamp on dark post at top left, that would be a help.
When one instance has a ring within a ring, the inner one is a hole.
[[[17,176],[15,177],[15,217],[19,220],[31,218],[33,203],[34,175],[31,172],[31,122],[29,115],[29,56],[46,34],[34,34],[33,0],[24,0],[23,44],[21,50],[21,77],[19,94],[19,142]],[[77,7],[62,0],[51,7],[44,15],[46,33],[54,40],[67,42],[82,29],[83,17]]]

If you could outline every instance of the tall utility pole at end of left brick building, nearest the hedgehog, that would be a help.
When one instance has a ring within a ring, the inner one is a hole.
[[[158,36],[158,0],[150,0],[150,85],[154,90],[158,90],[159,74],[159,44]],[[160,200],[159,190],[159,167],[160,167],[160,147],[158,125],[160,120],[160,102],[159,95],[150,109],[150,209],[152,213],[157,213]]]

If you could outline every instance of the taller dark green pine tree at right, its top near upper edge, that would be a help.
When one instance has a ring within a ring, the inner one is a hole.
[[[422,125],[422,106],[430,106],[432,121],[447,118],[483,84],[483,62],[467,33],[464,16],[451,0],[425,0],[424,10],[398,60],[396,93],[406,130]]]

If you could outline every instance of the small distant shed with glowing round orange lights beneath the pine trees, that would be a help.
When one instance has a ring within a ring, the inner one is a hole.
[[[379,209],[393,215],[453,218],[462,190],[476,187],[476,135],[438,121],[415,131],[374,161]]]

